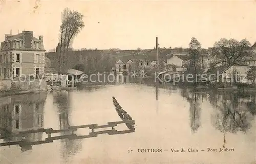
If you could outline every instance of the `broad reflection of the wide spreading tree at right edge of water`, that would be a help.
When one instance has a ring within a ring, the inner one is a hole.
[[[222,132],[247,132],[255,115],[255,95],[240,92],[219,92],[210,101],[216,110],[212,124]]]

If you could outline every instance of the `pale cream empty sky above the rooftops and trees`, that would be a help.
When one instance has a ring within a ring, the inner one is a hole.
[[[37,6],[36,9],[34,7]],[[46,50],[58,43],[61,12],[84,15],[74,49],[187,48],[196,37],[202,48],[221,38],[256,41],[256,1],[82,1],[0,0],[0,40],[33,31]]]

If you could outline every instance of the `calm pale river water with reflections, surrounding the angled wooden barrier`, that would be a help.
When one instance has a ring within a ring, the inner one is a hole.
[[[135,132],[2,146],[0,163],[255,163],[255,95],[176,87],[106,85],[0,98],[1,137],[10,133],[1,143],[20,140],[12,136],[19,131],[121,121],[113,96],[135,120]],[[79,129],[76,134],[90,132]],[[42,132],[25,136],[28,142],[47,137]]]

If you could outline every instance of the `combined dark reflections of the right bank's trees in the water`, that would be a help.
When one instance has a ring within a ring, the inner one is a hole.
[[[216,109],[211,115],[212,125],[223,133],[248,131],[254,118],[253,115],[256,113],[255,95],[249,93],[218,92],[215,90],[198,92],[195,89],[183,88],[181,95],[190,104],[189,114],[192,132],[196,132],[200,127],[201,103],[206,100]]]

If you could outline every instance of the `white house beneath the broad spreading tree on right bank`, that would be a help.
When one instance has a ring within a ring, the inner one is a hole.
[[[233,80],[237,83],[248,83],[251,84],[250,80],[247,80],[247,71],[250,69],[249,66],[232,65],[221,72],[223,82],[232,84]],[[237,78],[236,78],[237,75]]]

